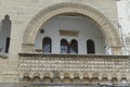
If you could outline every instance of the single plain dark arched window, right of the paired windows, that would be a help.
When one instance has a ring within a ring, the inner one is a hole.
[[[87,40],[87,52],[88,53],[95,53],[94,41],[91,39]]]

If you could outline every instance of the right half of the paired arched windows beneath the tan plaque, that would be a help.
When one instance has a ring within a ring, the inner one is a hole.
[[[69,53],[78,53],[78,42],[75,39],[70,41]]]

